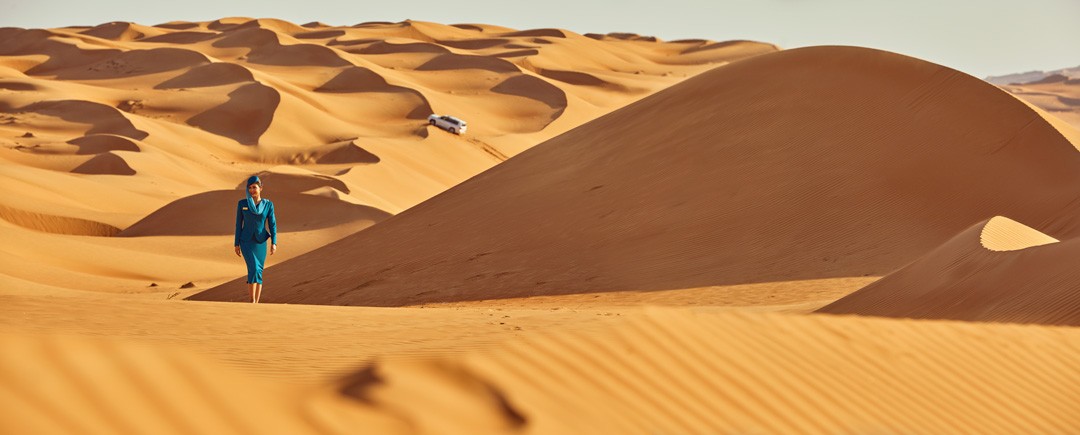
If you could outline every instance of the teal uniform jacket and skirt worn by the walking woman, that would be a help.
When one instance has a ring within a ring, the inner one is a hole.
[[[267,231],[267,227],[270,228]],[[258,205],[251,194],[237,203],[237,232],[233,246],[240,245],[240,254],[247,263],[247,284],[262,284],[262,264],[267,262],[267,240],[278,244],[278,219],[273,214],[273,203],[262,199]]]

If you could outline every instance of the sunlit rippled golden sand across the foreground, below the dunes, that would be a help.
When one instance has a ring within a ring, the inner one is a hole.
[[[19,416],[4,432],[1080,427],[1075,328],[690,309],[56,305],[75,300],[4,298],[0,404]]]

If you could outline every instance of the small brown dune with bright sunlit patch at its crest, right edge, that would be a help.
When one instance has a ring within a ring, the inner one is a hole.
[[[995,217],[819,312],[1080,326],[1080,239]]]

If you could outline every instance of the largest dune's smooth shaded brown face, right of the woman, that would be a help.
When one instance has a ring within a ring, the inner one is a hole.
[[[687,80],[282,263],[271,273],[289,291],[269,299],[883,275],[995,215],[1080,235],[1078,183],[1072,144],[985,82],[868,49],[791,50]],[[195,296],[243,297],[239,281]]]

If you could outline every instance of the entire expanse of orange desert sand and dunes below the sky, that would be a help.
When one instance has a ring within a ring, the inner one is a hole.
[[[3,28],[0,432],[1075,433],[1080,132],[1031,97],[1070,85],[489,24]]]

